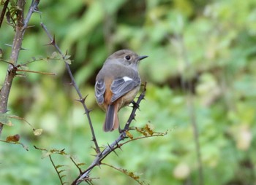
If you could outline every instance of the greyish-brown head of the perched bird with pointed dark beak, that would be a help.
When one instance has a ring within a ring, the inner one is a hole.
[[[148,56],[139,56],[131,50],[118,50],[107,58],[105,64],[120,63],[124,66],[131,66],[132,68],[137,68],[138,62],[147,57]]]

